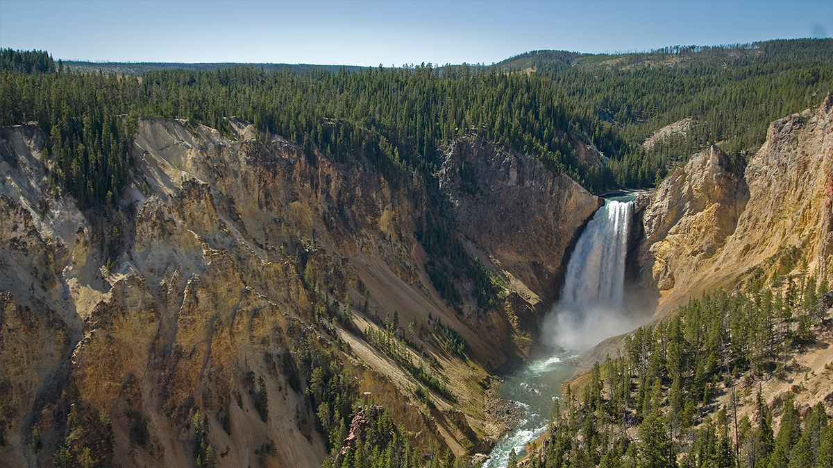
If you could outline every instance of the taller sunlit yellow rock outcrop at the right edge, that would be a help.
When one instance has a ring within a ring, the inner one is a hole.
[[[751,264],[797,246],[833,279],[833,99],[772,122],[746,167],[750,200],[722,261]],[[720,270],[715,270],[720,271]]]

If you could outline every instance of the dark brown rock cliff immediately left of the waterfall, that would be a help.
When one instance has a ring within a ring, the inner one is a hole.
[[[481,261],[533,305],[556,300],[564,257],[603,203],[541,161],[475,138],[446,147],[440,190],[461,232],[486,254]]]

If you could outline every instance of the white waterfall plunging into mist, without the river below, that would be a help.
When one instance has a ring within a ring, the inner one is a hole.
[[[583,351],[631,330],[624,311],[625,257],[633,202],[606,201],[570,257],[561,301],[544,321],[547,344]]]

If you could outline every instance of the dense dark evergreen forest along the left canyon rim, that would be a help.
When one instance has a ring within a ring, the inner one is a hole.
[[[571,112],[551,80],[477,69],[446,75],[441,78],[430,66],[304,74],[235,67],[118,78],[7,73],[2,80],[2,123],[35,120],[45,132],[57,127],[61,133],[56,137],[67,140],[83,132],[67,127],[68,120],[85,115],[90,106],[131,119],[152,115],[194,120],[230,135],[225,117],[233,115],[261,132],[298,142],[309,157],[314,157],[313,147],[337,160],[362,152],[394,180],[403,170],[430,174],[442,143],[476,130],[490,140],[537,153],[559,172],[579,170],[566,141]],[[72,115],[63,115],[63,110]],[[93,127],[101,129],[97,122]]]

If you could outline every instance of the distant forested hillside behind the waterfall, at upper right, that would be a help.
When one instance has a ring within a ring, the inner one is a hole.
[[[817,106],[831,92],[833,39],[797,39],[718,47],[663,47],[628,54],[534,51],[498,64],[536,68],[558,82],[584,117],[611,122],[627,144],[608,167],[625,187],[651,187],[676,162],[711,143],[744,164],[776,118]],[[635,143],[673,122],[693,125],[646,150]],[[606,127],[592,128],[603,151]]]

